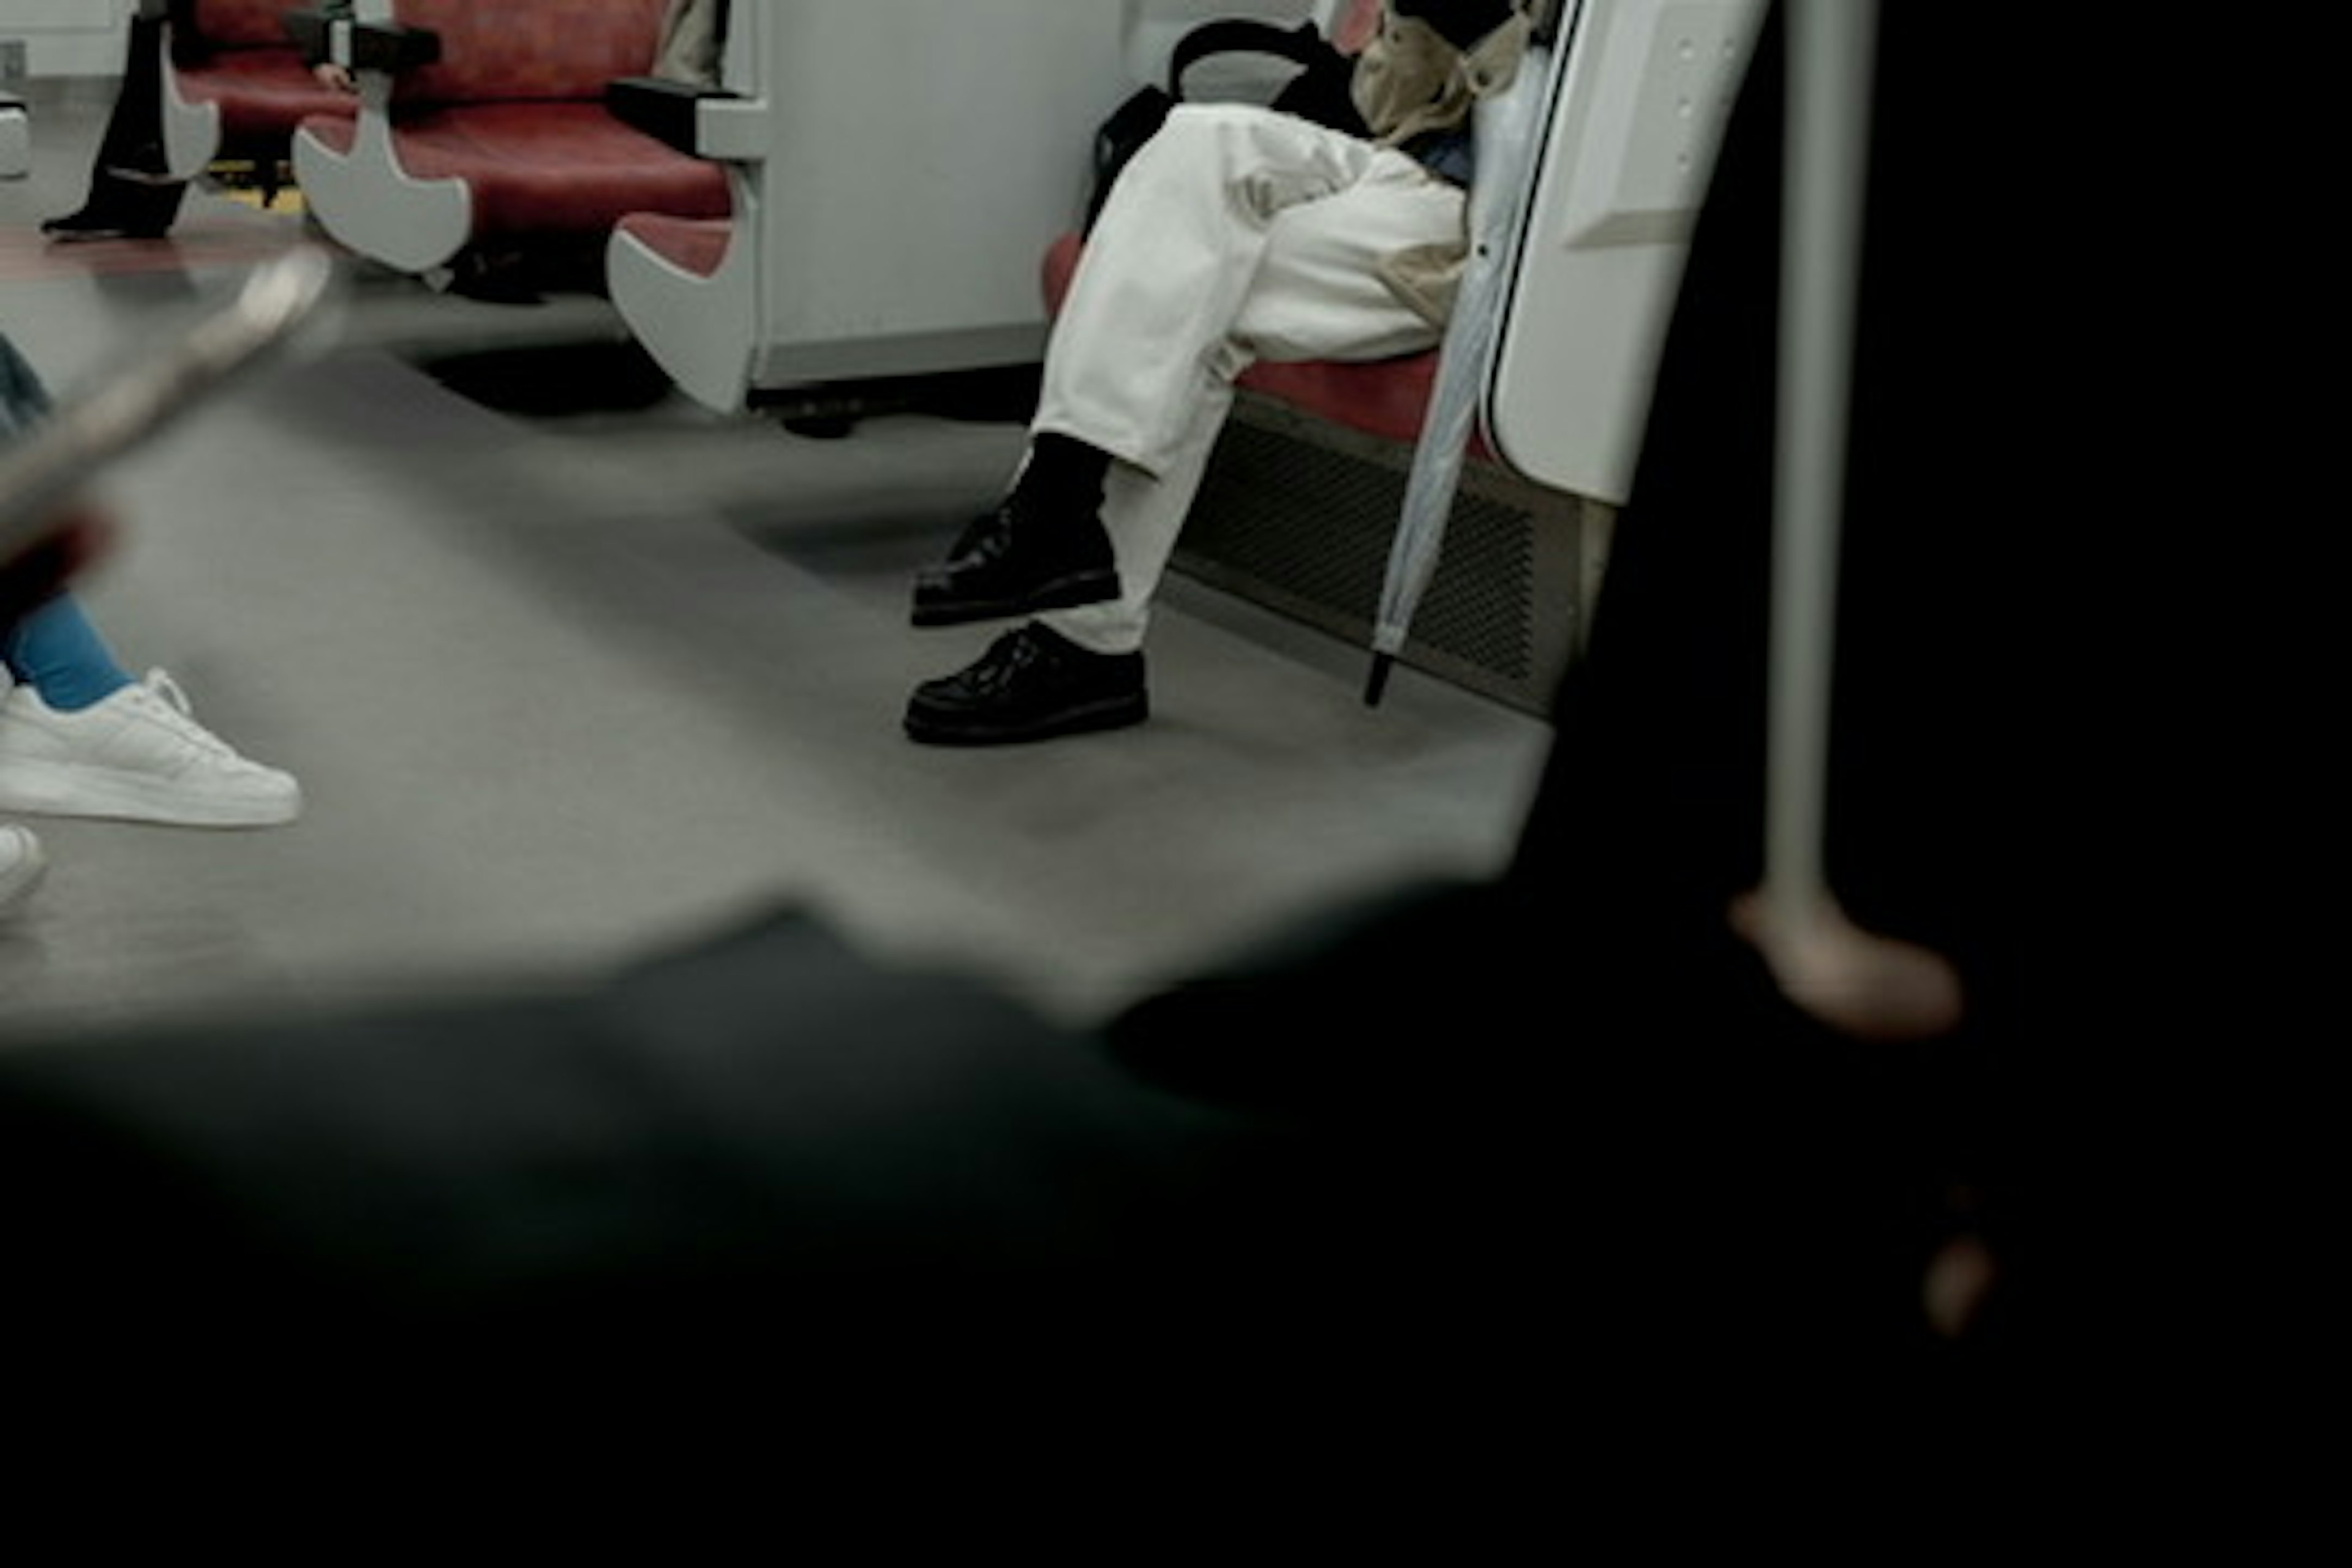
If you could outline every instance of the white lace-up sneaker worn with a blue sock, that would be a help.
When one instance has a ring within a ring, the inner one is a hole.
[[[268,827],[301,816],[301,785],[195,722],[148,670],[80,712],[19,684],[0,698],[0,811],[108,816],[183,827]]]

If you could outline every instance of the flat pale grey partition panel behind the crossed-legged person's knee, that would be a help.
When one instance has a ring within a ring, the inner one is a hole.
[[[910,19],[908,12],[920,12]],[[771,24],[762,383],[1014,362],[1124,94],[1120,12],[793,0]]]

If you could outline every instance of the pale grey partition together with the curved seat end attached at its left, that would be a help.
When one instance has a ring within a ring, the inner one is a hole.
[[[619,233],[614,301],[696,400],[1016,364],[1094,129],[1211,16],[1317,0],[736,0],[699,150],[734,169],[717,270]]]

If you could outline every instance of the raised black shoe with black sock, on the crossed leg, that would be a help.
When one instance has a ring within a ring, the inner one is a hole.
[[[948,559],[915,574],[915,625],[1002,621],[1120,597],[1103,534],[1110,458],[1040,435],[1014,494],[964,527]]]

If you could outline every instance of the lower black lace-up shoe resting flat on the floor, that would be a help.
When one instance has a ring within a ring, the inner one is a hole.
[[[1143,654],[1089,654],[1030,623],[997,637],[955,675],[915,686],[906,733],[927,745],[1004,745],[1148,717]]]

